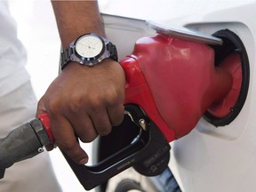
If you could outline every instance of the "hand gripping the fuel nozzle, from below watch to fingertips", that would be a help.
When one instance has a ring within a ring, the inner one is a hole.
[[[48,113],[55,144],[77,164],[86,164],[88,156],[76,136],[91,142],[108,135],[112,124],[121,124],[124,84],[124,70],[114,60],[92,68],[69,63],[39,100],[36,115]]]

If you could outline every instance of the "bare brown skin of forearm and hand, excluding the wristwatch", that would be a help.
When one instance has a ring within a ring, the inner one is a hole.
[[[85,33],[105,36],[97,1],[52,1],[52,7],[63,47]],[[124,84],[124,70],[114,60],[92,68],[70,62],[39,100],[36,116],[48,113],[55,144],[77,164],[86,164],[76,136],[91,142],[123,121]]]

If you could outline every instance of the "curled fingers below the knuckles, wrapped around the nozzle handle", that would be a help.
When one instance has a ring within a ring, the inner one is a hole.
[[[82,115],[80,118],[73,116],[69,120],[71,123],[65,118],[52,117],[54,120],[51,121],[51,128],[55,144],[77,164],[86,164],[88,155],[80,147],[76,136],[83,142],[91,142],[97,135],[108,135],[111,132],[112,124],[121,124],[123,121],[123,105],[118,105],[117,108],[112,107],[108,108],[108,110],[102,108],[96,111],[92,113],[92,117],[85,115],[85,113],[83,118],[81,117]],[[47,146],[46,149],[52,150],[53,145]]]

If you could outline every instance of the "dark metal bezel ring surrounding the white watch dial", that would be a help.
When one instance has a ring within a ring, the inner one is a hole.
[[[76,51],[76,44],[77,42],[79,42],[82,38],[86,37],[86,36],[96,36],[97,38],[100,39],[100,42],[102,44],[102,49],[100,51],[99,54],[97,54],[96,56],[94,57],[89,57],[89,58],[86,58],[86,57],[83,57],[82,55],[80,55],[77,51]],[[81,64],[85,64],[85,65],[93,65],[93,64],[96,64],[96,63],[99,63],[101,60],[105,59],[106,56],[108,57],[108,52],[107,52],[107,55],[104,55],[104,53],[106,52],[106,41],[104,41],[104,39],[101,37],[101,36],[98,36],[97,34],[93,34],[93,33],[90,33],[90,34],[85,34],[85,35],[82,35],[82,36],[79,36],[76,41],[74,42],[73,44],[73,50],[74,50],[74,55],[73,57],[71,56],[71,60],[74,60],[74,61],[78,61],[80,62]],[[74,57],[75,56],[75,57]]]

